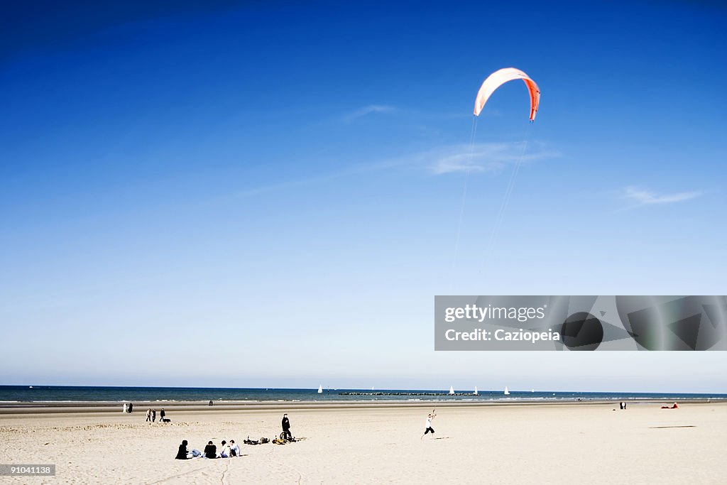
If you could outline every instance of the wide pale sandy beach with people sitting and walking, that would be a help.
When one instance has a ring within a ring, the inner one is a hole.
[[[727,404],[661,405],[440,406],[423,439],[425,406],[168,407],[167,424],[145,422],[141,406],[6,409],[0,462],[57,465],[53,478],[3,478],[30,484],[723,483]],[[242,444],[277,436],[284,412],[305,439]],[[174,460],[183,439],[199,450],[234,439],[243,456]]]

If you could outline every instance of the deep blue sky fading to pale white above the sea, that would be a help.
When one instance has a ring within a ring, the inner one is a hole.
[[[727,392],[434,352],[435,294],[726,291],[726,9],[490,3],[3,7],[0,383]],[[537,120],[505,84],[470,145],[508,66]]]

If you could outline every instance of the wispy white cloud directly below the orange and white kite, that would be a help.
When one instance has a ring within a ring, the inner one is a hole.
[[[558,151],[539,143],[478,143],[452,145],[430,153],[430,171],[435,175],[453,172],[497,172],[508,164],[555,159]]]

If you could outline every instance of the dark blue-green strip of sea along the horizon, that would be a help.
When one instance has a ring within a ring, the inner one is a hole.
[[[340,401],[472,401],[472,402],[547,402],[547,401],[680,401],[727,400],[719,393],[615,393],[563,392],[544,390],[479,390],[472,389],[410,390],[410,389],[316,389],[278,388],[146,388],[58,385],[0,385],[0,406],[34,403],[36,406],[80,402],[340,402]]]

